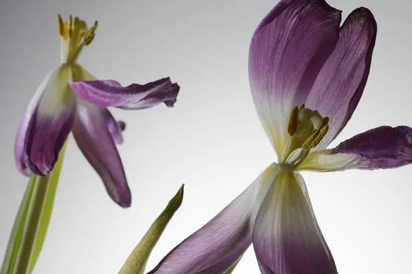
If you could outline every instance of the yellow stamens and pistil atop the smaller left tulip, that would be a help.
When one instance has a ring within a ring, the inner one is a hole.
[[[57,16],[58,34],[61,37],[60,59],[62,63],[73,64],[76,62],[80,51],[93,41],[95,30],[98,27],[98,21],[95,21],[93,27],[87,28],[87,23],[81,21],[78,17],[74,21],[69,15],[69,20],[64,22],[60,14]]]

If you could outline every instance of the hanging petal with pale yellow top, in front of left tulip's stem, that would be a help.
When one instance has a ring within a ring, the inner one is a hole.
[[[73,125],[76,96],[69,86],[69,70],[61,65],[52,72],[27,124],[24,160],[36,175],[46,176],[52,171]],[[21,132],[26,125],[23,123]]]

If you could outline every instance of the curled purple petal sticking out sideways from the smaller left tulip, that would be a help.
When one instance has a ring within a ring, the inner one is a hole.
[[[179,85],[163,78],[146,85],[131,84],[122,87],[112,80],[71,83],[78,97],[103,107],[113,106],[127,110],[151,108],[159,103],[172,107],[179,93]]]

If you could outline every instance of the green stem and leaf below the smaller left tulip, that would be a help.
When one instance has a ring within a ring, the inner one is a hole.
[[[10,234],[0,274],[30,274],[36,264],[52,215],[54,196],[67,142],[47,177],[32,175]]]

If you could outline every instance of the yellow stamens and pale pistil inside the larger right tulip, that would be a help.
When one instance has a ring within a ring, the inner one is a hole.
[[[322,117],[317,110],[301,105],[290,112],[288,121],[288,141],[284,147],[280,164],[285,169],[295,170],[325,137],[329,129],[329,118]]]

